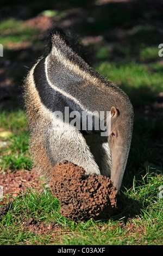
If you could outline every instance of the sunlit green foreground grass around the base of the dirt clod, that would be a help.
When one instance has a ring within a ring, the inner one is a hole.
[[[162,200],[158,197],[160,175],[147,173],[141,180],[133,181],[133,187],[121,195],[123,210],[110,220],[74,222],[61,216],[59,201],[49,190],[44,193],[28,190],[15,198],[9,211],[2,218],[1,245],[161,245]],[[132,203],[131,203],[132,201]],[[139,214],[133,216],[134,204],[139,201]],[[60,235],[34,233],[25,229],[28,219],[48,225],[60,225]],[[132,232],[131,225],[135,231]]]

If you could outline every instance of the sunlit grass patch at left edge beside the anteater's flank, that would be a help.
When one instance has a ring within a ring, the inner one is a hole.
[[[30,169],[32,161],[28,154],[29,132],[26,114],[20,109],[10,113],[2,111],[0,123],[2,124],[0,132],[2,170]]]

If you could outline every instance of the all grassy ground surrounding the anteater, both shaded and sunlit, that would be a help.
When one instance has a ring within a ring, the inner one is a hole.
[[[45,33],[42,27],[34,26],[36,23],[29,26],[26,21],[32,22],[31,18],[48,8],[49,11],[44,12],[46,17],[52,16],[62,25],[65,19],[74,22],[71,23],[74,31],[81,34],[85,45],[92,46],[93,66],[129,95],[135,109],[135,121],[119,198],[121,212],[109,220],[76,223],[60,215],[59,202],[50,191],[40,194],[28,190],[16,197],[0,216],[1,245],[162,245],[163,214],[159,186],[163,184],[163,60],[158,56],[158,45],[162,43],[162,5],[143,2],[142,8],[139,1],[136,6],[108,2],[105,5],[93,4],[92,8],[83,6],[85,2],[80,1],[78,6],[73,1],[68,6],[66,1],[62,6],[57,5],[57,1],[48,6],[41,2],[37,10],[37,1],[33,1],[28,8],[20,8],[18,13],[17,1],[12,14],[10,11],[2,16],[2,172],[30,170],[32,166],[20,87],[32,62],[42,54]],[[76,7],[84,8],[85,12],[72,9]],[[117,15],[119,13],[121,15]],[[45,26],[44,22],[42,26]],[[39,230],[38,223],[42,227]],[[49,231],[43,231],[47,227]]]

